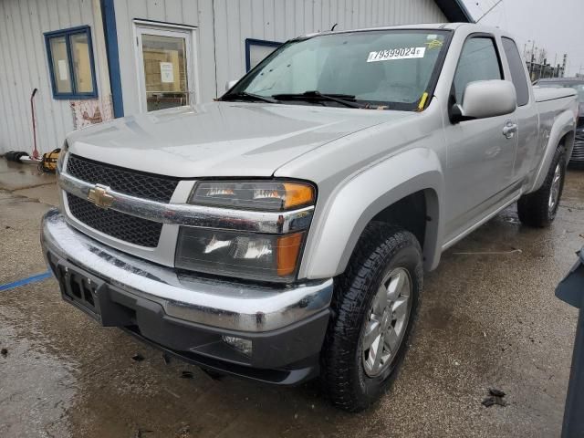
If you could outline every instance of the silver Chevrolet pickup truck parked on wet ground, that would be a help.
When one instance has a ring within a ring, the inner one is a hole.
[[[558,211],[575,92],[534,91],[499,29],[302,36],[229,85],[69,134],[41,235],[66,301],[204,370],[364,409],[441,253]]]

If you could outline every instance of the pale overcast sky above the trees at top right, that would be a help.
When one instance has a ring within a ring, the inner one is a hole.
[[[497,0],[463,0],[474,19],[482,16]],[[477,5],[478,4],[478,5]],[[528,40],[547,50],[552,64],[558,54],[568,53],[568,74],[584,74],[584,0],[503,0],[481,20],[514,34],[523,53]],[[527,47],[531,48],[531,42]],[[567,75],[568,76],[568,75]]]

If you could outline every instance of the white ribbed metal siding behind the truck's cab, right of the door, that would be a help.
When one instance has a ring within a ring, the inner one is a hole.
[[[446,23],[433,0],[214,0],[217,88],[245,73],[245,39],[284,42],[328,30]]]

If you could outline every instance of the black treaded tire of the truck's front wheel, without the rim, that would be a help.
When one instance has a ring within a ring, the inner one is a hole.
[[[373,298],[391,269],[407,270],[412,285],[410,316],[389,368],[370,377],[362,360],[362,335]],[[328,398],[340,409],[360,412],[390,388],[405,355],[422,293],[422,250],[412,233],[399,227],[371,223],[360,237],[349,266],[335,281],[333,317],[321,353],[321,382]]]

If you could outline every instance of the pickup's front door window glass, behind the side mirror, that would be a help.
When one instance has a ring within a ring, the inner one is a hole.
[[[495,40],[487,36],[467,39],[454,74],[453,89],[456,103],[463,103],[464,89],[470,82],[502,78]]]

